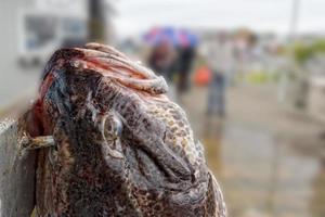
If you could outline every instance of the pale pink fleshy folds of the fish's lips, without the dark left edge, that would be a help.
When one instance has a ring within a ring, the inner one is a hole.
[[[92,42],[75,50],[82,53],[82,58],[77,56],[69,61],[75,67],[96,71],[123,86],[152,94],[168,91],[162,76],[156,76],[153,71],[130,60],[113,47]]]

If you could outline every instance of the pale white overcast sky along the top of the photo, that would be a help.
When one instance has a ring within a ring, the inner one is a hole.
[[[154,25],[233,28],[287,34],[294,0],[118,0],[119,36]],[[300,0],[298,33],[325,33],[325,0]]]

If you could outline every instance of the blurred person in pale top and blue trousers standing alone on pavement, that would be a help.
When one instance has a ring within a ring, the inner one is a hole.
[[[212,72],[209,85],[207,115],[225,116],[226,80],[233,67],[233,48],[225,33],[209,39],[203,54]]]

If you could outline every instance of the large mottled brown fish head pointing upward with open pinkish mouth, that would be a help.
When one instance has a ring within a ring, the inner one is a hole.
[[[185,113],[161,77],[110,47],[63,49],[49,61],[32,136],[37,215],[225,216],[221,191]]]

